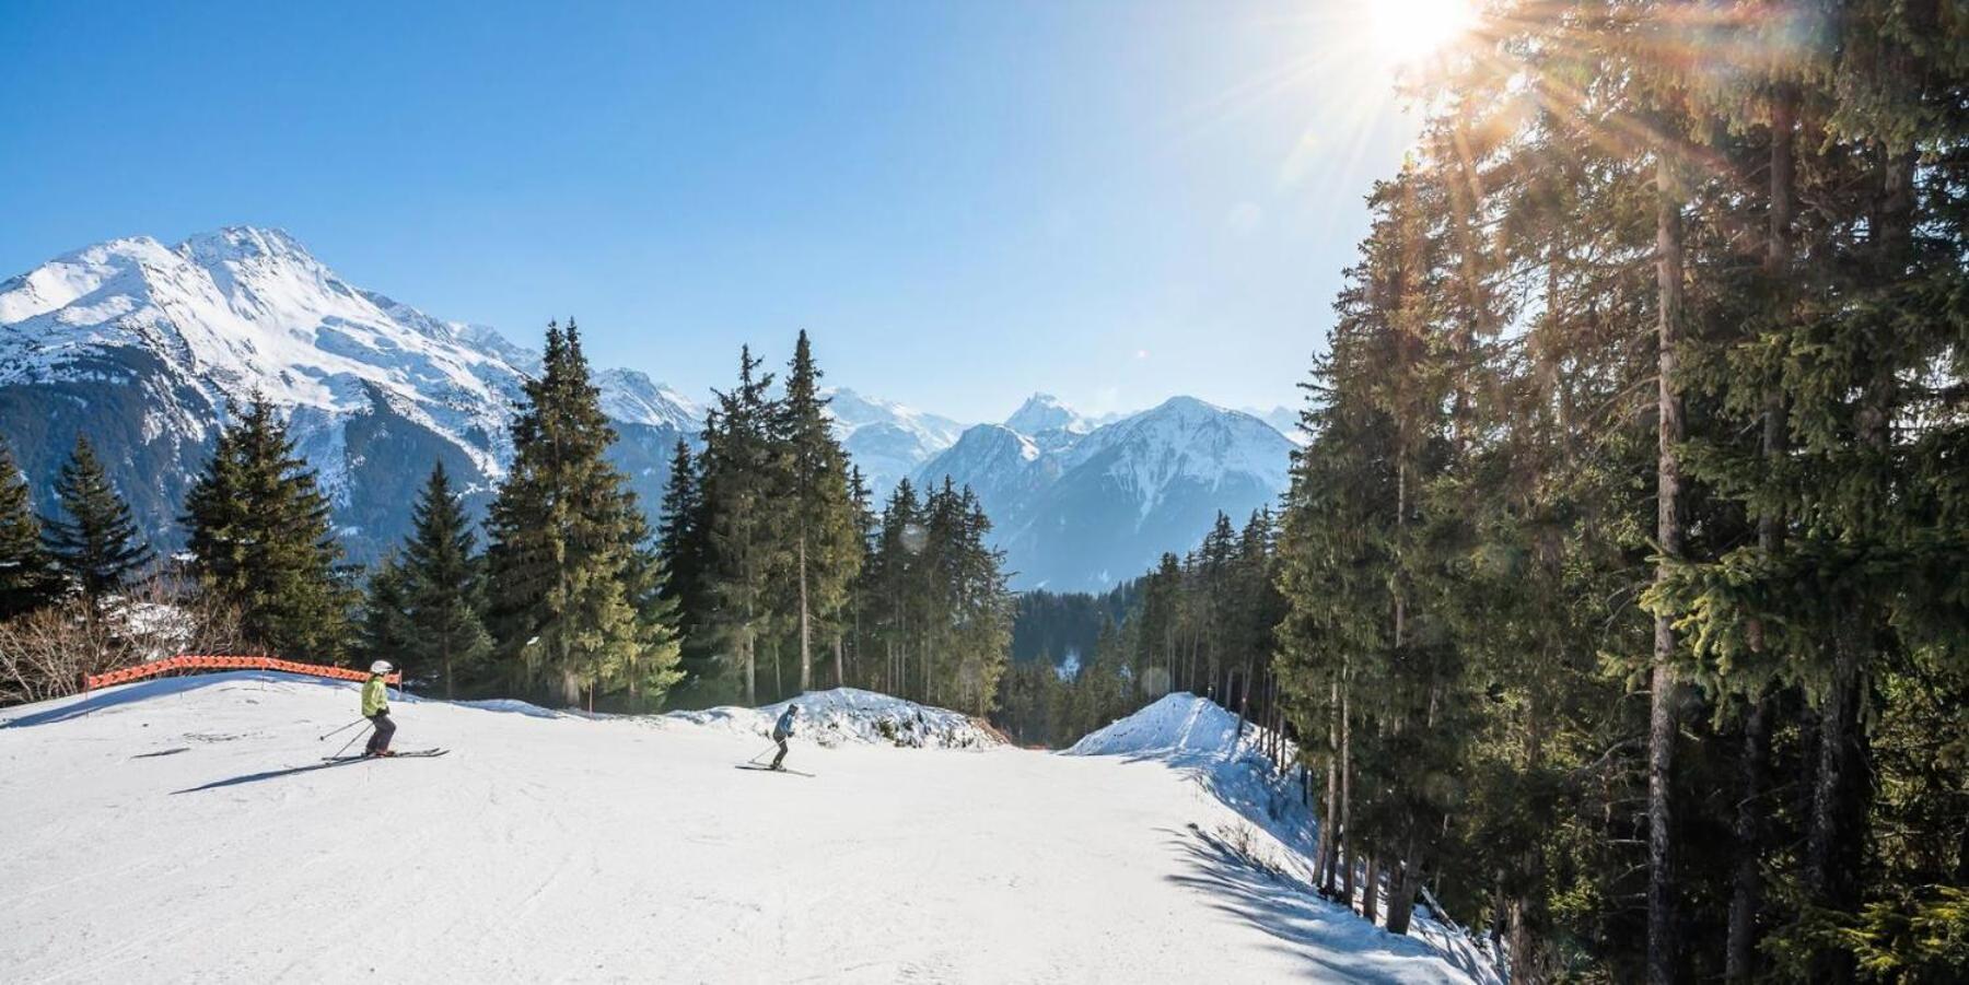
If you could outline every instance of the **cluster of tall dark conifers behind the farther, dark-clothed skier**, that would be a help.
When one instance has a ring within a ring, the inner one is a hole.
[[[855,684],[983,714],[1010,627],[990,521],[967,490],[918,501],[908,484],[878,519],[819,379],[801,334],[774,397],[748,346],[703,452],[677,448],[662,554],[681,574],[664,598],[689,633],[683,700]]]

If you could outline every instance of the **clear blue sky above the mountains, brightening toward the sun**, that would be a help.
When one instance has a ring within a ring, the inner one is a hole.
[[[689,391],[1298,403],[1416,126],[1366,2],[0,0],[0,277],[266,224]]]

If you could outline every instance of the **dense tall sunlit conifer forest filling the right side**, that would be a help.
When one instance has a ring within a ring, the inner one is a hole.
[[[1518,981],[1969,975],[1965,28],[1504,4],[1420,83],[1278,547],[1327,893]]]

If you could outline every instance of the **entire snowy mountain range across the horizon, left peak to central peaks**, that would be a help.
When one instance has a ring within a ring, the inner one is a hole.
[[[410,525],[433,460],[482,505],[512,462],[508,425],[540,354],[341,279],[280,230],[234,226],[63,254],[0,281],[0,435],[47,507],[87,433],[165,549],[228,401],[287,419],[356,560]],[[675,440],[705,409],[622,368],[597,370],[620,435],[610,456],[654,509]],[[878,495],[904,476],[969,482],[1020,586],[1099,588],[1193,547],[1215,509],[1284,488],[1290,444],[1256,417],[1177,397],[1118,421],[1036,395],[1004,425],[831,391],[849,454]],[[1201,519],[1199,519],[1201,517]]]

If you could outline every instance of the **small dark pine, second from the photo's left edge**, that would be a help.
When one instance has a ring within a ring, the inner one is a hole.
[[[102,462],[87,436],[77,435],[75,452],[55,480],[55,495],[65,517],[47,519],[47,552],[95,609],[102,596],[116,592],[150,564],[150,545],[144,543],[130,505],[102,474]]]

